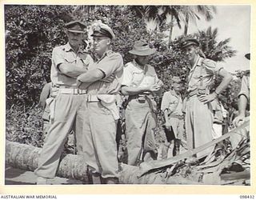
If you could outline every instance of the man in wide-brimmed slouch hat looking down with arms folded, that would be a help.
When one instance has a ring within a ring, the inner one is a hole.
[[[134,54],[133,62],[124,67],[122,94],[129,95],[126,108],[126,136],[128,164],[137,166],[142,161],[156,159],[154,130],[156,127],[156,102],[162,81],[153,66],[150,55],[156,50],[144,40],[134,42],[129,51]]]

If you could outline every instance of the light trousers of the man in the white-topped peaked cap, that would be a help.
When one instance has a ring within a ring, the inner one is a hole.
[[[82,119],[82,135],[77,141],[90,172],[102,178],[118,178],[117,122],[101,102],[83,102],[78,110]]]

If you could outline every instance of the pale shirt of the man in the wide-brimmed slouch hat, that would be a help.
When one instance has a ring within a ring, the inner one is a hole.
[[[153,66],[145,65],[144,69],[142,69],[135,60],[126,63],[123,74],[122,86],[154,86],[154,84],[160,82]]]

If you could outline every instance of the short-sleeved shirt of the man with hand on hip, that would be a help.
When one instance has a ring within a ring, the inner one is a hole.
[[[198,89],[201,84],[200,75],[202,75],[202,87],[209,88],[214,80],[214,75],[218,74],[221,69],[222,67],[217,66],[213,60],[198,56],[197,62],[188,76],[188,91]]]

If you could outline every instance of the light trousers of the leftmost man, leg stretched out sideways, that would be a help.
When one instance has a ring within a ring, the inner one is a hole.
[[[74,128],[77,136],[82,133],[82,116],[78,116],[78,108],[85,99],[86,94],[57,94],[50,102],[53,116],[38,158],[38,168],[34,171],[38,176],[54,178],[70,130]]]

